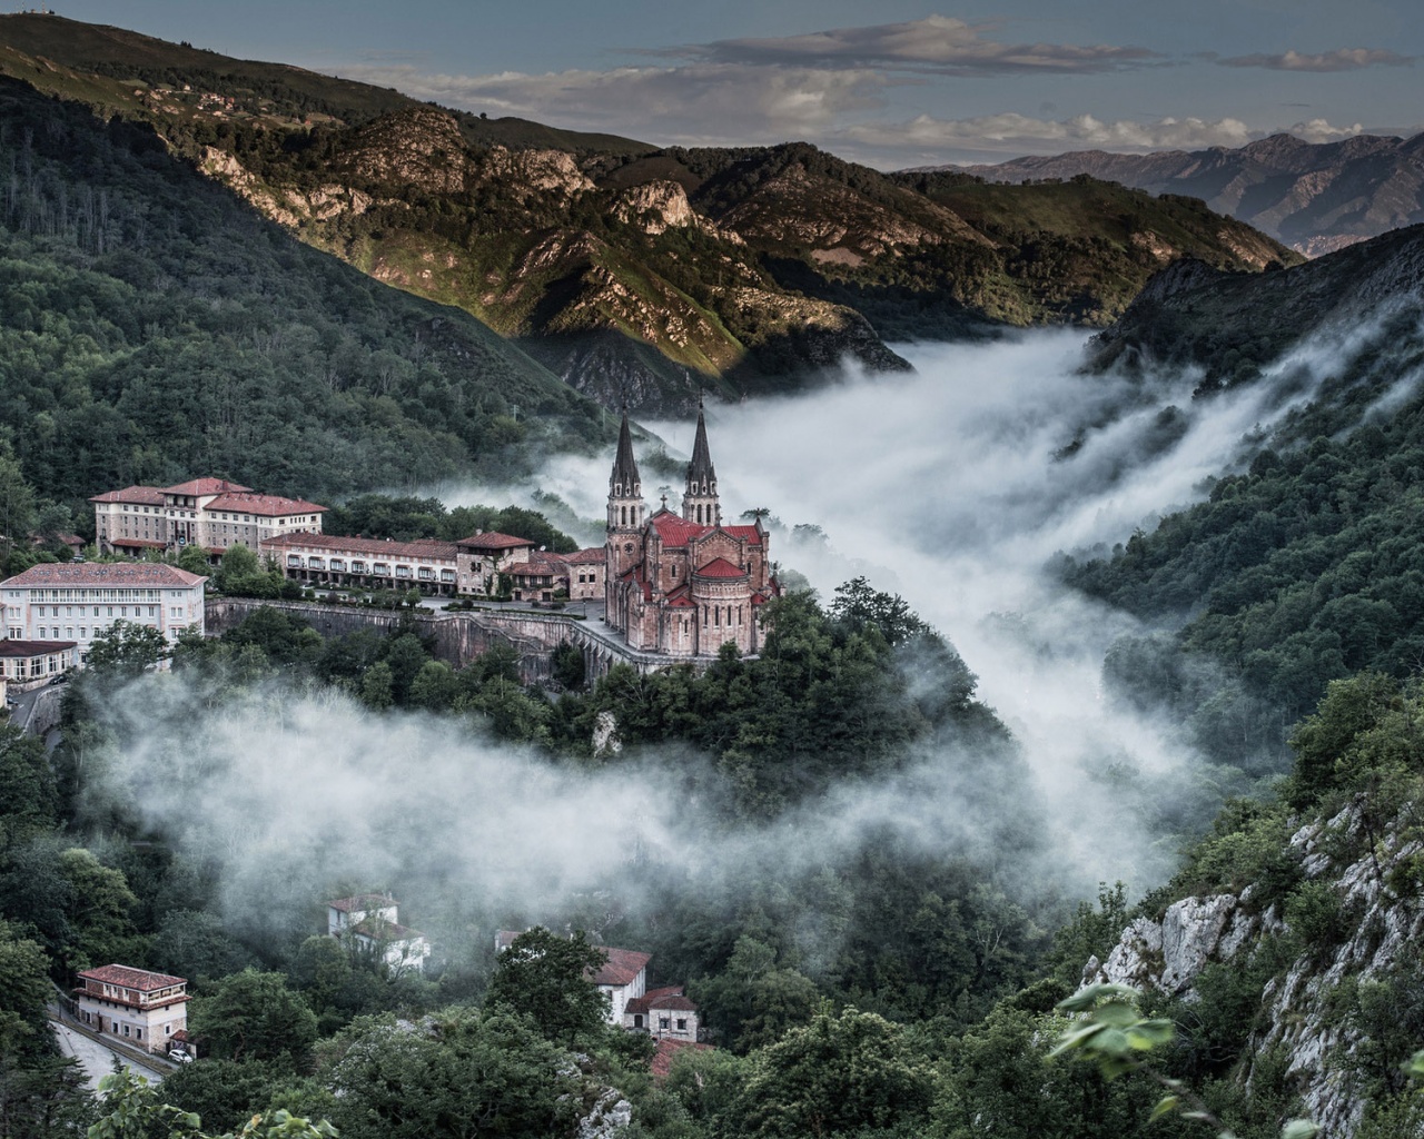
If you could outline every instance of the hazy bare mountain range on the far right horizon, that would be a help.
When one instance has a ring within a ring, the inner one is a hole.
[[[1276,134],[1237,149],[1077,151],[934,169],[1011,184],[1088,175],[1151,194],[1186,194],[1306,256],[1424,221],[1424,134],[1361,134],[1340,142]]]

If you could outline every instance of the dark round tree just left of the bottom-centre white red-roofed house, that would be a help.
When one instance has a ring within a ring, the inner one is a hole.
[[[588,975],[607,960],[582,930],[564,938],[535,925],[500,954],[484,1008],[525,1015],[545,1039],[561,1044],[597,1035],[608,1019],[608,997]]]

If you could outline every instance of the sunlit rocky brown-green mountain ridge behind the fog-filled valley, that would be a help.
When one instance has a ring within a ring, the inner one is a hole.
[[[1105,326],[1176,258],[1299,256],[1188,198],[884,175],[806,144],[659,149],[51,14],[0,74],[152,131],[306,245],[454,305],[605,404],[800,383],[886,340]]]

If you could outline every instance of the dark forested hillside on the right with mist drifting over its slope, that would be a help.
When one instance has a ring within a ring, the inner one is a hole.
[[[1199,400],[1323,377],[1208,501],[1059,567],[1162,629],[1116,645],[1106,676],[1213,755],[1279,753],[1329,681],[1424,659],[1421,286],[1414,226],[1250,283],[1171,271],[1102,337],[1099,363],[1203,369]]]

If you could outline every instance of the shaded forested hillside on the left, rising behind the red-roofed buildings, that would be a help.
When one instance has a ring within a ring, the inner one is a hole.
[[[323,498],[525,470],[600,410],[467,313],[292,241],[152,131],[0,88],[0,423],[41,494]]]

